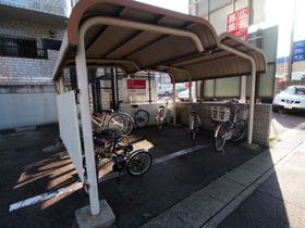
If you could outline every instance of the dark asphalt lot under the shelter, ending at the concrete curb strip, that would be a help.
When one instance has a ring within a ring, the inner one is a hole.
[[[54,147],[58,136],[57,125],[1,135],[5,227],[77,227],[74,213],[89,200],[69,155]],[[202,130],[192,142],[185,126],[135,129],[130,140],[135,149],[149,149],[154,164],[143,177],[100,179],[100,200],[113,208],[118,227],[146,223],[266,149],[228,142],[224,153],[216,152],[212,131]]]

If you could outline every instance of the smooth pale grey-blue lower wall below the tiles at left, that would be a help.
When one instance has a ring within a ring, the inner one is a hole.
[[[57,93],[0,94],[0,130],[58,122]]]

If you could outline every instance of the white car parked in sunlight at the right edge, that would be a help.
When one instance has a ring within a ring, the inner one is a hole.
[[[305,86],[290,86],[276,96],[272,101],[272,111],[279,112],[283,109],[305,111]]]

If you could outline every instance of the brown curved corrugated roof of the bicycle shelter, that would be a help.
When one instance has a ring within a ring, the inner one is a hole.
[[[85,38],[91,66],[120,66],[125,74],[158,69],[173,74],[175,81],[188,81],[190,75],[200,80],[251,74],[249,61],[236,54],[240,51],[254,58],[257,72],[266,72],[260,49],[232,34],[218,37],[206,20],[129,0],[80,1],[69,20],[69,42],[59,62],[74,58],[80,26],[102,15],[108,17],[93,24]],[[57,64],[54,78],[64,65]]]

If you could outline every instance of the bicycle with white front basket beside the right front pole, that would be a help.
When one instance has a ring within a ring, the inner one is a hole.
[[[237,107],[235,102],[228,102],[228,105],[231,109],[227,106],[211,107],[211,117],[219,123],[215,130],[215,149],[217,151],[223,149],[227,140],[241,141],[247,129],[245,119],[248,117],[248,110],[246,106]]]

